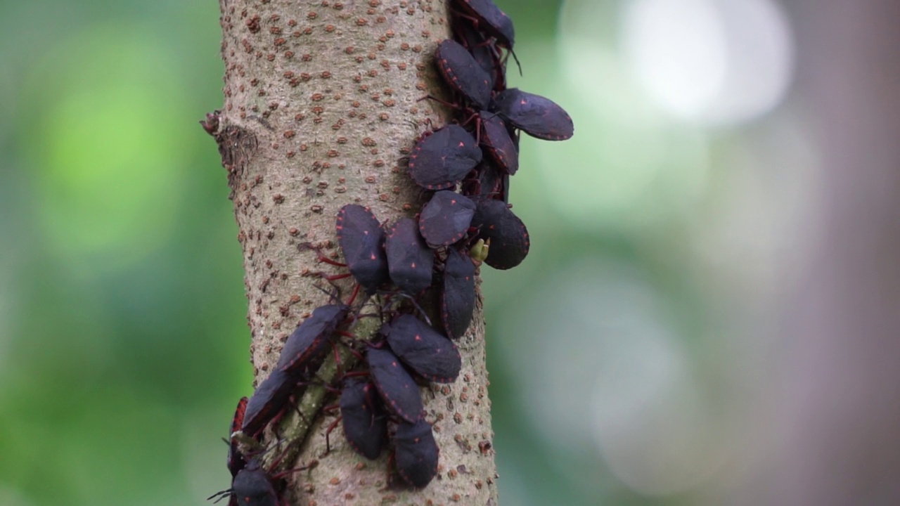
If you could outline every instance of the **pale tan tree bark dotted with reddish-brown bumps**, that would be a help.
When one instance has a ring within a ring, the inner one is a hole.
[[[449,36],[447,7],[441,0],[220,0],[220,7],[225,104],[212,133],[244,252],[258,384],[290,332],[329,302],[315,287],[320,278],[309,275],[330,267],[298,245],[311,242],[337,256],[335,216],[346,203],[370,206],[382,221],[419,210],[420,192],[402,158],[428,122],[446,120],[446,111],[419,99],[440,95],[431,55]],[[421,491],[387,486],[388,456],[357,456],[339,428],[323,456],[334,416],[320,406],[334,399],[311,387],[301,402],[305,416],[288,417],[281,429],[283,438],[303,441],[286,467],[319,460],[289,479],[292,503],[497,502],[481,295],[477,305],[459,342],[459,379],[422,389],[440,447],[436,479]],[[334,375],[332,359],[322,375]]]

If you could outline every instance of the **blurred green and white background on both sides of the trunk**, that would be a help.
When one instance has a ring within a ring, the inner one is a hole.
[[[874,401],[870,356],[832,367],[845,348],[827,346],[852,330],[852,286],[819,276],[859,263],[858,285],[887,280],[867,307],[890,337],[893,257],[817,245],[858,227],[854,244],[896,253],[896,238],[866,245],[900,221],[854,221],[842,210],[866,199],[834,195],[900,189],[865,165],[896,153],[835,157],[896,143],[879,122],[897,102],[879,98],[897,90],[897,7],[497,3],[516,23],[510,86],[562,104],[576,131],[523,136],[510,200],[531,252],[482,271],[502,503],[822,504],[783,491],[853,490],[808,465],[841,460],[827,440],[870,464],[852,466],[867,490],[896,481],[900,454],[867,460],[872,441],[829,425]],[[197,124],[222,103],[218,19],[211,0],[0,4],[2,506],[200,505],[229,486],[220,437],[252,377],[237,227]],[[885,343],[873,355],[893,364]],[[855,383],[819,382],[821,364]],[[856,404],[816,402],[830,393]],[[900,404],[877,401],[896,428]]]

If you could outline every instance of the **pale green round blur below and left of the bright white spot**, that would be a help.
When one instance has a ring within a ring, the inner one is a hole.
[[[534,148],[523,141],[519,157],[526,165],[527,151],[536,150],[548,202],[565,221],[593,233],[671,221],[707,189],[707,134],[672,122],[629,74],[611,36],[616,7],[587,0],[563,5],[557,51],[544,63],[565,78],[546,93],[572,97],[563,105],[575,135]]]

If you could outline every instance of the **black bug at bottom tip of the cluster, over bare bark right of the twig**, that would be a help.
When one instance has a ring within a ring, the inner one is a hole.
[[[414,424],[399,423],[394,434],[397,472],[416,488],[424,488],[437,474],[437,443],[431,424],[425,419]]]

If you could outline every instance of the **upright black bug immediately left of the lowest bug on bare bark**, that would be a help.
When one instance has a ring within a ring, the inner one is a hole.
[[[348,379],[340,394],[344,435],[361,456],[378,458],[388,439],[388,417],[375,385],[363,379]]]

